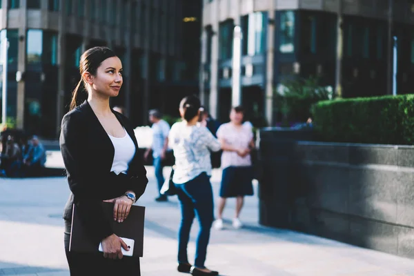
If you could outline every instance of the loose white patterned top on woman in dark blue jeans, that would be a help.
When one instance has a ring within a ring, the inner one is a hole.
[[[175,171],[172,181],[184,184],[202,172],[211,175],[210,150],[219,151],[219,141],[205,126],[187,126],[185,121],[172,125],[168,144],[174,150]]]

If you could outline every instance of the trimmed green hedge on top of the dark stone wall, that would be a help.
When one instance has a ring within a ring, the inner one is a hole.
[[[414,144],[414,95],[319,101],[312,114],[322,141]]]

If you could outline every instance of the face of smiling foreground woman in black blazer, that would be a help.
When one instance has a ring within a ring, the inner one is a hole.
[[[117,97],[122,86],[122,63],[119,57],[110,57],[102,61],[95,76],[86,76],[92,92],[100,96]]]

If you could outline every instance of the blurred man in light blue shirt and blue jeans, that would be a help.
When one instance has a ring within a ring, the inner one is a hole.
[[[161,112],[157,109],[150,110],[150,122],[152,123],[152,147],[146,150],[144,158],[147,159],[152,150],[153,165],[155,170],[155,177],[158,183],[158,193],[164,184],[164,175],[162,161],[166,158],[168,149],[168,132],[170,132],[170,125],[162,118]],[[159,193],[159,197],[155,201],[167,201],[165,195]]]

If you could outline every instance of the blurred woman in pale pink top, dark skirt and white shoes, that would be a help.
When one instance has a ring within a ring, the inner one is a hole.
[[[223,124],[217,130],[221,148],[221,187],[219,212],[214,227],[222,229],[223,211],[229,197],[236,198],[233,227],[242,227],[239,220],[244,204],[244,196],[253,195],[253,166],[250,151],[254,148],[253,132],[249,124],[243,124],[244,108],[236,106],[230,112],[230,122]]]

